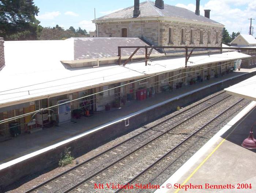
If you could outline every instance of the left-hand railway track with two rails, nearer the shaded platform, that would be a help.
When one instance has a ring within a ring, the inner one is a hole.
[[[188,125],[189,121],[194,121],[202,117],[206,111],[213,111],[218,105],[223,105],[232,98],[225,92],[221,92],[211,98],[205,99],[200,103],[189,107],[188,109],[177,113],[174,116],[163,120],[156,125],[147,128],[143,132],[115,145],[114,147],[86,160],[83,163],[57,175],[56,177],[28,190],[26,193],[67,193],[67,192],[90,192],[91,184],[97,180],[104,181],[111,173],[112,169],[122,167],[127,162],[127,159],[133,159],[143,150],[150,150],[154,143],[161,143],[162,139],[169,138],[170,135],[175,135],[182,125]],[[184,126],[183,126],[184,127]],[[195,129],[194,129],[195,130]],[[172,134],[170,134],[172,131]],[[186,136],[186,135],[185,135]],[[181,135],[178,141],[184,139]],[[177,140],[177,139],[176,139]],[[124,163],[122,163],[124,162]],[[118,164],[118,167],[116,166]],[[125,181],[131,178],[125,179]],[[86,183],[87,182],[87,183]],[[83,188],[80,188],[81,185]]]

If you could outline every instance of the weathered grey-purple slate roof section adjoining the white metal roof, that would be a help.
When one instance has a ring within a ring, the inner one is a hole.
[[[109,58],[118,55],[118,46],[148,46],[139,38],[72,38],[74,39],[74,60]],[[122,49],[122,56],[130,56],[134,48]],[[139,49],[135,55],[144,55]],[[159,54],[153,50],[152,54]]]

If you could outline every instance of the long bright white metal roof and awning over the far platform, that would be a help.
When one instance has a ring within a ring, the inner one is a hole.
[[[138,79],[156,73],[184,68],[185,57],[153,60],[119,65],[102,65],[99,68],[66,69],[60,62],[72,58],[72,39],[65,41],[13,41],[5,42],[5,68],[0,71],[0,106],[13,105],[72,93],[87,87],[109,82]],[[35,49],[36,48],[36,49]],[[238,52],[192,56],[191,66],[251,57]]]

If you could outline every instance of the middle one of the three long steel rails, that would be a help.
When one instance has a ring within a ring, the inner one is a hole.
[[[178,125],[174,126],[173,128],[170,128],[170,129],[166,130],[165,132],[161,133],[161,134],[158,135],[157,137],[154,137],[154,139],[148,141],[147,143],[144,143],[142,146],[140,146],[140,147],[136,148],[135,150],[129,152],[128,154],[124,155],[122,158],[119,158],[119,159],[116,160],[115,162],[110,163],[108,166],[106,166],[106,167],[104,167],[103,169],[97,171],[96,173],[90,175],[89,177],[87,177],[87,178],[84,179],[83,181],[77,183],[76,185],[72,186],[71,188],[65,190],[65,191],[62,192],[62,193],[71,192],[72,190],[74,190],[74,189],[77,188],[78,186],[82,185],[84,182],[86,182],[86,181],[88,181],[89,179],[94,178],[94,177],[97,176],[98,174],[102,173],[102,171],[107,170],[108,168],[112,167],[113,165],[115,165],[116,163],[120,162],[121,160],[127,158],[128,156],[130,156],[130,155],[133,154],[134,152],[136,152],[136,151],[142,149],[142,148],[145,147],[146,145],[148,145],[148,144],[152,143],[153,141],[157,140],[159,137],[165,135],[166,133],[170,132],[170,131],[173,130],[174,128],[177,128],[178,126],[182,125],[184,122],[189,121],[191,118],[197,116],[198,114],[202,113],[203,111],[205,111],[205,110],[207,110],[207,109],[210,109],[212,106],[218,104],[219,102],[225,100],[226,98],[229,98],[230,96],[232,96],[232,95],[228,95],[228,96],[226,96],[225,98],[219,99],[218,101],[212,103],[210,106],[204,108],[204,109],[201,110],[199,113],[195,113],[195,114],[194,114],[192,117],[190,117],[189,119],[184,120],[184,121],[182,121],[181,123],[179,123]],[[155,126],[154,126],[154,127],[155,127]]]

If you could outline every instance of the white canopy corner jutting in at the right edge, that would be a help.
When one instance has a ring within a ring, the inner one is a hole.
[[[225,89],[229,94],[256,101],[256,76]]]

